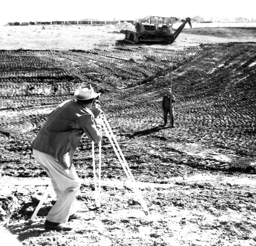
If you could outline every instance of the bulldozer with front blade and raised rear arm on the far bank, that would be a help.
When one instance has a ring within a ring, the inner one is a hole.
[[[178,19],[176,17],[147,16],[137,22],[135,31],[121,30],[125,34],[124,41],[135,44],[138,42],[163,42],[172,44],[178,37],[186,23],[192,28],[190,18],[187,17],[183,23],[173,30],[172,26]]]

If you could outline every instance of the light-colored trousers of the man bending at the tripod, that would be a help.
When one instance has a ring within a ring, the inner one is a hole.
[[[81,186],[81,180],[76,174],[73,164],[67,174],[58,160],[53,156],[33,149],[36,161],[44,168],[51,178],[57,201],[49,211],[46,219],[55,223],[66,223],[68,217],[76,212],[76,193]]]

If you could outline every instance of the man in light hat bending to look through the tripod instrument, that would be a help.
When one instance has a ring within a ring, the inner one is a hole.
[[[57,106],[30,146],[36,161],[51,178],[57,195],[57,201],[46,217],[45,230],[71,230],[61,224],[80,218],[75,214],[74,203],[81,180],[72,160],[84,133],[94,142],[100,142],[102,138],[102,111],[93,103],[99,95],[91,85],[80,86],[75,92],[76,100],[66,100]]]

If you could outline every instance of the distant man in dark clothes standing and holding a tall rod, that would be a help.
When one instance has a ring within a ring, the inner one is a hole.
[[[166,124],[167,124],[167,115],[169,112],[171,127],[175,127],[174,126],[174,115],[173,115],[173,104],[172,104],[173,102],[175,102],[175,97],[172,94],[171,88],[167,88],[165,92],[166,92],[166,95],[164,95],[163,101],[162,101],[162,108],[164,111],[164,126],[166,126]],[[172,97],[172,102],[171,102],[171,97]],[[171,108],[172,108],[172,110],[171,110]]]

